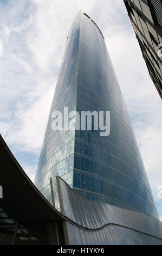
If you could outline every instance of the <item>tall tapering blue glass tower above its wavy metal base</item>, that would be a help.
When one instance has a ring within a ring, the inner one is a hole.
[[[52,113],[64,107],[110,111],[109,136],[94,129],[54,131]],[[54,194],[60,209],[57,175],[82,197],[159,218],[104,37],[82,11],[67,37],[35,176],[37,188],[50,203]]]

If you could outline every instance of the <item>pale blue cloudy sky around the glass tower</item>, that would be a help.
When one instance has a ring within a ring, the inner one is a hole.
[[[0,0],[0,132],[34,180],[69,28],[85,11],[105,37],[160,220],[162,101],[121,0]]]

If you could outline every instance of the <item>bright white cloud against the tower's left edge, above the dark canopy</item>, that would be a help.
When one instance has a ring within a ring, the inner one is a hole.
[[[33,151],[38,153],[41,148],[44,131],[47,125],[48,113],[51,105],[51,100],[54,93],[53,81],[47,80],[47,85],[44,85],[44,90],[37,90],[28,95],[33,97],[33,100],[26,102],[20,99],[15,107],[15,121],[10,123],[10,126],[2,123],[2,129],[6,134],[9,143],[19,145],[23,151]],[[38,88],[37,88],[38,89]],[[36,95],[38,96],[38,99]],[[40,94],[42,94],[40,96]],[[36,101],[34,101],[36,97]],[[26,109],[26,107],[28,108]]]

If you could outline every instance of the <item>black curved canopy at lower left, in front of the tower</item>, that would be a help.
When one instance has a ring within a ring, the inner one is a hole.
[[[63,217],[37,190],[1,135],[0,185],[0,207],[16,221],[53,221]]]

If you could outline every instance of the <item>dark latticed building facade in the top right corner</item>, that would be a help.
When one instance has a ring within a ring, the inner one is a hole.
[[[162,99],[162,2],[124,0],[148,72]]]

